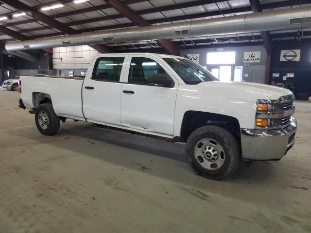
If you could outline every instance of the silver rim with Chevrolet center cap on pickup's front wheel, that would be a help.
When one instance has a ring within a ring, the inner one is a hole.
[[[201,166],[207,170],[217,170],[224,165],[225,150],[214,139],[201,139],[195,146],[194,155]]]

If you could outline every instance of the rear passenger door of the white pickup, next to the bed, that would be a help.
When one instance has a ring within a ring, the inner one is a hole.
[[[124,81],[124,55],[101,56],[93,61],[83,85],[83,111],[87,121],[121,124],[121,86]]]

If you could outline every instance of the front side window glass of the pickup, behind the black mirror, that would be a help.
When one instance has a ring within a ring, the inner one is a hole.
[[[133,57],[130,65],[128,83],[149,84],[148,76],[153,74],[167,75],[165,70],[154,60],[145,57]]]

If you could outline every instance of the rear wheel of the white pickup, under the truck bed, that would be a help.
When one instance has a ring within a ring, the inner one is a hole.
[[[40,119],[39,119],[40,115],[43,115],[44,118],[47,118],[47,121],[43,122],[42,120],[43,118],[41,117],[41,122],[40,122]],[[55,114],[51,103],[43,103],[43,104],[40,104],[36,108],[35,124],[39,132],[42,133],[43,135],[53,135],[57,133],[59,126],[60,126],[60,117]]]

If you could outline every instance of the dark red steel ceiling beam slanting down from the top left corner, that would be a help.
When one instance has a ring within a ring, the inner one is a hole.
[[[67,25],[60,23],[59,21],[57,21],[56,19],[53,19],[52,17],[49,17],[49,16],[41,13],[40,11],[34,9],[33,7],[26,5],[23,2],[20,2],[18,0],[1,0],[1,1],[7,5],[14,7],[15,9],[17,9],[19,11],[25,12],[28,16],[33,17],[36,21],[41,21],[41,22],[51,26],[52,28],[56,28],[57,30],[61,31],[64,34],[75,34],[75,33],[77,33],[76,30],[70,28]],[[90,45],[90,47],[92,47],[92,45]],[[104,53],[112,52],[112,49],[109,48],[108,46],[105,46],[105,45],[98,45],[98,46],[96,46],[96,48],[97,48],[96,50],[98,50],[102,53],[103,52]]]

